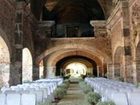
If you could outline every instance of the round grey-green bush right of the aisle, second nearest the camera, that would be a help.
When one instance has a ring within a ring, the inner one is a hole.
[[[101,96],[98,93],[89,92],[86,99],[90,104],[97,104],[101,100]]]

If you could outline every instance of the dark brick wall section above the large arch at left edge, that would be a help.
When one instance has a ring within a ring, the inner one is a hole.
[[[15,31],[15,12],[16,5],[11,0],[0,1],[0,28],[6,34],[7,44],[12,53],[14,44],[14,31]],[[12,57],[11,57],[12,58]]]

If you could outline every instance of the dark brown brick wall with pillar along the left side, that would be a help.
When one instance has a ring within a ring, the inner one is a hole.
[[[31,13],[30,5],[12,0],[0,1],[0,29],[4,32],[1,36],[9,47],[11,58],[10,85],[21,83],[22,49],[27,47],[34,57],[35,26],[37,22]]]

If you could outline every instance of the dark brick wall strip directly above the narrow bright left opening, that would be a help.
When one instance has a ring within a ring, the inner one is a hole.
[[[34,54],[34,37],[36,35],[37,20],[31,13],[30,6],[26,6],[23,13],[23,47],[30,49]]]

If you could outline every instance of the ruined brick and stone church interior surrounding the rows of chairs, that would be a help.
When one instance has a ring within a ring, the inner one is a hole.
[[[0,86],[59,76],[74,61],[95,68],[89,70],[95,76],[140,82],[140,1],[95,1],[102,13],[89,18],[84,32],[88,17],[77,5],[0,0]],[[43,14],[44,7],[58,15]]]

